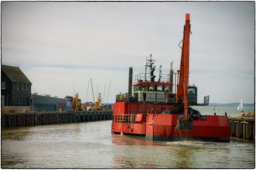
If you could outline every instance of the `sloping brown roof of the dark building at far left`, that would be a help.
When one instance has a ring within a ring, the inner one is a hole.
[[[12,82],[32,84],[19,67],[1,65],[1,69]]]

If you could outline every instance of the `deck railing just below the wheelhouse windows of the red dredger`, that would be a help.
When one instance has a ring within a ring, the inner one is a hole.
[[[138,92],[132,93],[131,95],[128,93],[116,95],[116,102],[141,103],[143,101],[143,95],[138,94]],[[166,94],[147,93],[145,102],[166,103]]]

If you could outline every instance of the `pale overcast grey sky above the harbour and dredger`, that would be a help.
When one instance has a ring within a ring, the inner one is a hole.
[[[2,2],[2,64],[19,66],[32,93],[64,98],[88,80],[115,101],[128,90],[129,67],[179,69],[185,13],[190,13],[190,84],[199,101],[254,103],[255,2]],[[156,72],[157,74],[157,72]],[[158,79],[158,76],[156,80]],[[97,85],[98,84],[98,85]],[[93,101],[91,87],[87,101]]]

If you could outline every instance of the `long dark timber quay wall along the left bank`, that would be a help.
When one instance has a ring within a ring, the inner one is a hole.
[[[87,121],[112,120],[112,117],[112,110],[6,113],[2,114],[1,128],[82,123]]]

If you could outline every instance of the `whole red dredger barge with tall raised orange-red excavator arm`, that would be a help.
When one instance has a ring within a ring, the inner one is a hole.
[[[130,67],[129,92],[116,95],[116,103],[113,104],[113,133],[142,135],[151,140],[230,140],[227,115],[201,115],[188,107],[208,105],[209,101],[206,96],[204,103],[198,104],[197,87],[188,86],[189,47],[190,15],[186,14],[180,70],[174,73],[171,63],[169,75],[161,74],[160,70],[158,81],[155,81],[155,60],[150,56],[145,63],[145,73],[135,76],[132,84],[133,70]],[[177,92],[174,86],[176,93],[172,90],[173,75],[177,75]],[[143,88],[146,89],[146,98],[141,92]]]

